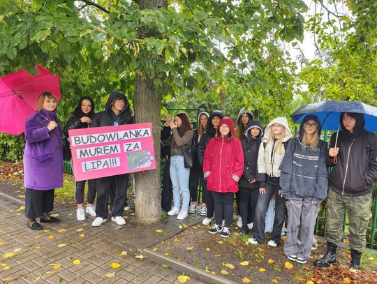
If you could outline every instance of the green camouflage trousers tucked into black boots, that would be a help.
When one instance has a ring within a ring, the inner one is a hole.
[[[347,210],[350,230],[350,248],[355,251],[365,250],[365,234],[371,218],[372,193],[364,196],[344,196],[329,188],[327,195],[327,230],[325,238],[333,244],[343,239],[343,217]]]

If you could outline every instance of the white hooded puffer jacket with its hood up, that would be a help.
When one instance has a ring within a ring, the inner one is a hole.
[[[258,172],[260,174],[267,174],[269,177],[280,177],[280,163],[285,154],[285,148],[281,145],[281,154],[278,154],[272,149],[274,141],[270,138],[272,132],[272,124],[281,124],[285,128],[283,142],[287,142],[292,137],[292,132],[288,126],[288,121],[285,117],[276,117],[265,128],[265,135],[262,143],[260,143],[258,152]],[[276,146],[276,144],[275,144]]]

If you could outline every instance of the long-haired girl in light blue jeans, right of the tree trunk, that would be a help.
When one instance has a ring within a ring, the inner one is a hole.
[[[178,220],[184,220],[188,215],[188,205],[190,203],[190,190],[188,189],[188,179],[190,178],[190,168],[184,167],[184,147],[191,146],[193,142],[193,128],[191,126],[190,117],[186,112],[179,112],[172,121],[169,117],[166,118],[166,124],[172,130],[172,137],[170,140],[170,179],[173,186],[173,200],[172,209],[168,212],[169,216],[178,214]],[[179,205],[182,193],[182,208],[179,211]]]

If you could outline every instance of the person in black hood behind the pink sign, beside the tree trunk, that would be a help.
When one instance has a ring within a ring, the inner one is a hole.
[[[133,115],[128,99],[121,91],[112,91],[103,112],[98,112],[91,127],[132,124]],[[98,227],[108,219],[108,197],[112,197],[111,220],[118,225],[126,224],[123,218],[124,202],[129,174],[117,174],[98,179],[96,218],[92,226]]]

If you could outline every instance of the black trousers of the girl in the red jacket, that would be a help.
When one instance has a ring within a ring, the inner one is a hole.
[[[221,225],[225,219],[225,226],[230,227],[232,225],[235,193],[216,193],[212,191],[212,195],[214,197],[216,225]]]

